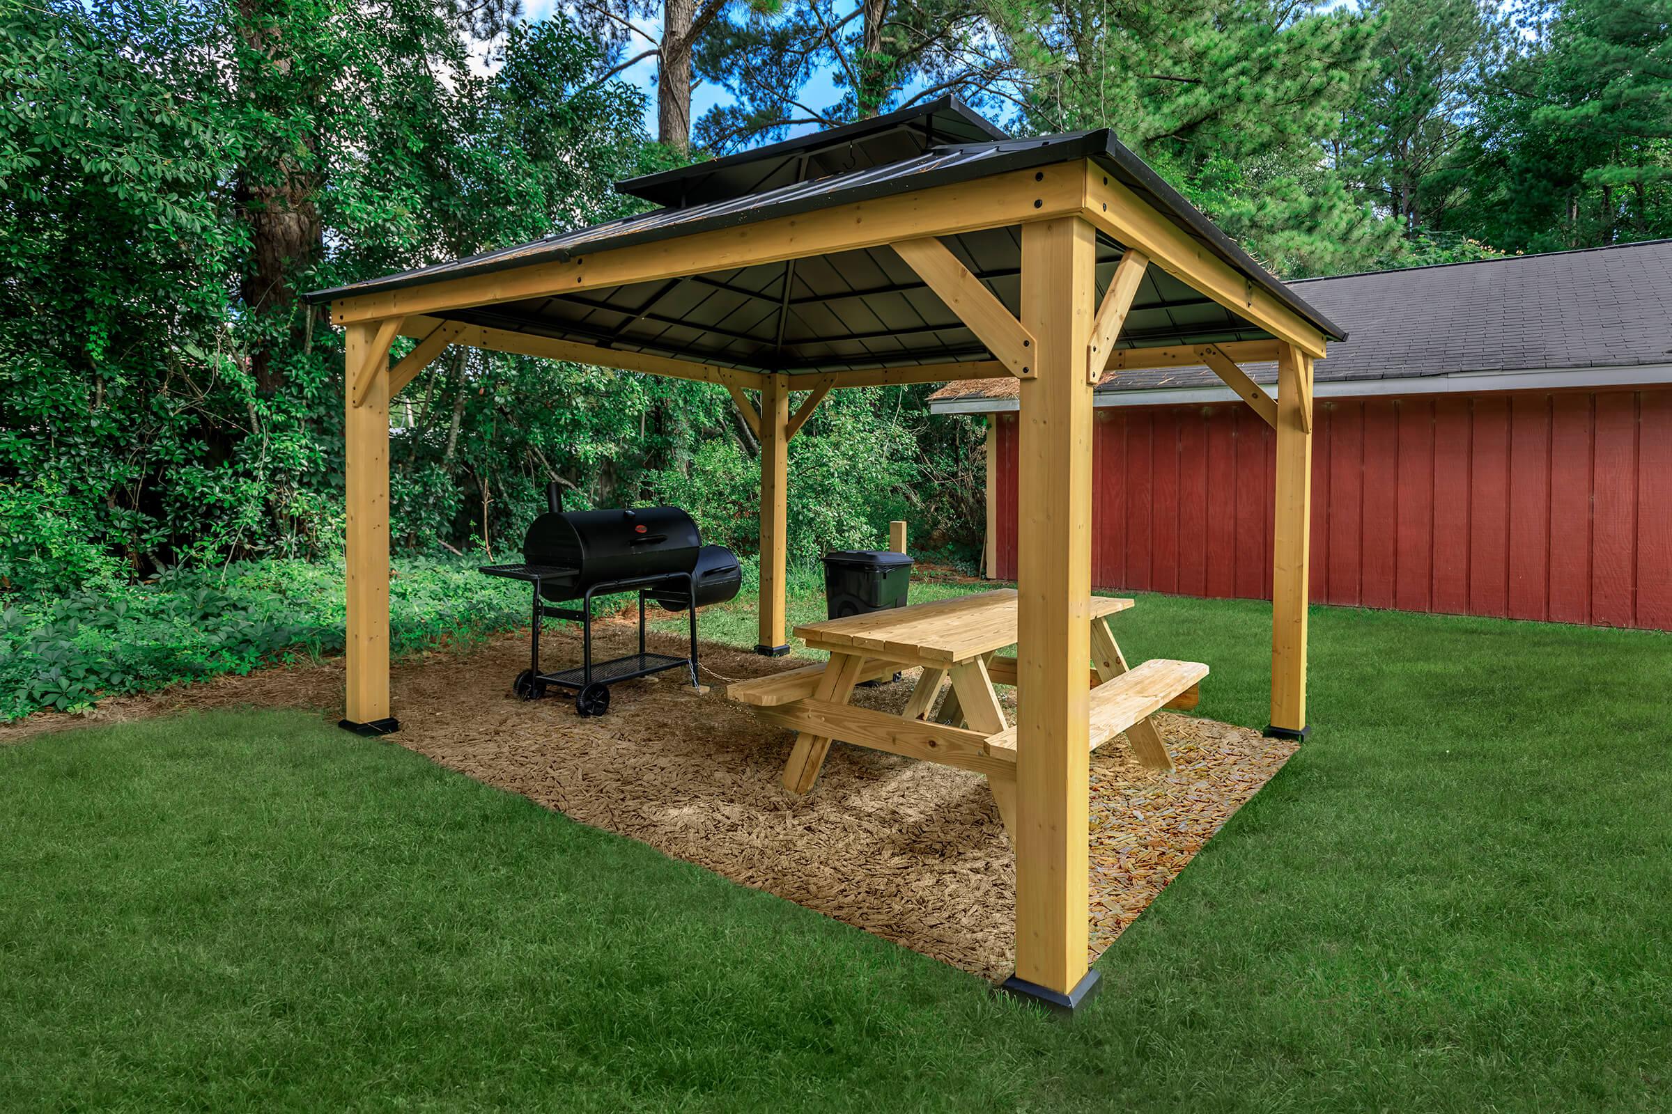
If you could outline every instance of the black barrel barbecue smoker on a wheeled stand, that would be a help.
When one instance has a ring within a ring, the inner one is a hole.
[[[644,506],[617,511],[563,511],[563,493],[547,484],[547,513],[523,534],[522,565],[483,565],[488,576],[522,580],[533,586],[533,623],[528,668],[512,681],[523,700],[540,700],[548,686],[572,690],[575,711],[604,715],[610,685],[686,668],[697,686],[697,606],[724,603],[737,595],[742,570],[726,546],[706,546],[697,524],[677,506]],[[605,661],[592,660],[592,600],[639,593],[639,653]],[[675,658],[645,650],[645,603],[669,611],[691,611],[691,653]],[[553,606],[579,601],[580,606]],[[692,606],[696,605],[696,606]],[[580,623],[580,665],[557,673],[540,671],[540,620]]]

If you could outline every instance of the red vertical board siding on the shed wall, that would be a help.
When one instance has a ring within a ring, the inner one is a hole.
[[[1274,453],[1241,404],[1100,409],[1097,585],[1269,598]],[[1005,414],[1003,578],[1015,463]],[[1313,598],[1672,630],[1672,389],[1319,404]]]

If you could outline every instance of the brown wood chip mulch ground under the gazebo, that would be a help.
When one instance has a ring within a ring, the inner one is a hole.
[[[604,625],[595,646],[620,653],[632,635],[627,623]],[[543,641],[547,668],[579,661],[567,631]],[[674,638],[652,643],[684,653]],[[704,646],[707,695],[665,673],[619,685],[607,717],[580,718],[562,695],[510,695],[527,653],[525,636],[507,635],[396,665],[401,732],[391,742],[946,964],[1010,974],[1015,867],[983,778],[838,743],[818,788],[793,798],[779,785],[793,737],[726,700],[724,685],[801,661]],[[906,671],[864,688],[856,703],[898,710],[911,680]],[[334,710],[341,695],[343,665],[333,660],[107,700],[90,720],[241,705]],[[0,727],[0,743],[87,722],[30,717]],[[1294,753],[1294,743],[1195,717],[1164,713],[1160,730],[1177,763],[1170,773],[1139,767],[1124,743],[1092,758],[1093,957]]]

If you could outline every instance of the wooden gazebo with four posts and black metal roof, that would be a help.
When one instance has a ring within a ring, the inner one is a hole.
[[[757,650],[771,655],[788,653],[788,444],[818,403],[841,387],[1015,376],[1017,979],[1073,1005],[1095,979],[1092,387],[1109,369],[1206,364],[1276,428],[1271,730],[1299,737],[1313,361],[1344,334],[1109,130],[1010,139],[943,99],[619,189],[660,207],[311,296],[346,329],[346,722],[396,728],[388,408],[446,346],[727,389],[761,441]],[[391,366],[400,336],[416,347]],[[1239,367],[1251,361],[1277,362],[1276,399]]]

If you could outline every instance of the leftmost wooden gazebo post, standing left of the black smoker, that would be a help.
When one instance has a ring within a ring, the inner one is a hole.
[[[343,727],[361,735],[400,728],[390,717],[390,374],[385,364],[393,339],[395,331],[380,329],[376,321],[348,326],[344,339],[348,700]],[[371,371],[359,377],[358,372],[368,367]],[[358,399],[356,387],[361,389]]]

